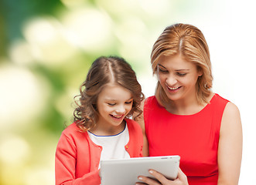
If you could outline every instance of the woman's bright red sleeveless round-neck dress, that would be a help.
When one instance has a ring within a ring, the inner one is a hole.
[[[179,155],[189,185],[217,185],[220,123],[227,99],[215,94],[199,113],[175,115],[155,96],[145,100],[145,132],[149,156]]]

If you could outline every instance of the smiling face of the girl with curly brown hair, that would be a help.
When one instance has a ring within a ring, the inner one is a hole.
[[[108,83],[97,98],[99,119],[97,129],[112,133],[123,126],[123,119],[131,111],[133,99],[131,92],[122,86]]]

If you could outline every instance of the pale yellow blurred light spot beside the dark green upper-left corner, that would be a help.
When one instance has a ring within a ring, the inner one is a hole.
[[[30,20],[24,28],[24,36],[34,59],[45,65],[62,65],[74,55],[75,48],[67,39],[63,25],[55,18]]]

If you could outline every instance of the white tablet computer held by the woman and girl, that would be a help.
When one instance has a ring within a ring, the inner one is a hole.
[[[123,160],[101,160],[101,185],[131,185],[138,176],[153,176],[148,170],[162,173],[170,180],[176,179],[179,170],[179,156],[148,156]]]

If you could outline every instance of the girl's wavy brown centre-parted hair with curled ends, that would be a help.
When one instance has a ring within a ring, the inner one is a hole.
[[[90,130],[96,125],[98,120],[97,98],[109,82],[115,82],[130,90],[133,103],[127,118],[134,113],[137,116],[142,114],[139,106],[144,95],[131,66],[121,57],[101,56],[90,66],[87,77],[80,86],[80,95],[74,97],[74,99],[79,98],[75,100],[77,108],[73,112],[74,121],[82,131]]]

